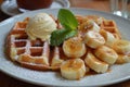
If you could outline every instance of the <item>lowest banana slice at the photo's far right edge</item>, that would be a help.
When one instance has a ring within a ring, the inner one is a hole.
[[[116,63],[117,64],[130,63],[130,55],[119,54]]]

